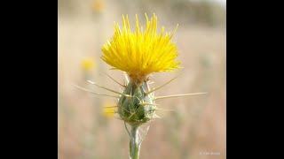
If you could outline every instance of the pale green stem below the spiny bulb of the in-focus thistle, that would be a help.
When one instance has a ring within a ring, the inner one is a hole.
[[[138,140],[138,126],[131,126],[130,131],[130,159],[138,159],[140,152],[140,143]]]

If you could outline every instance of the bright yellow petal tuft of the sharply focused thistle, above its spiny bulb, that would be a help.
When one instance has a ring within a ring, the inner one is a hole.
[[[127,72],[135,83],[146,80],[146,75],[152,72],[171,72],[178,68],[180,62],[175,61],[178,55],[177,46],[170,42],[175,33],[165,32],[162,27],[161,34],[157,34],[157,17],[154,15],[148,20],[146,15],[146,29],[139,29],[136,15],[136,32],[130,31],[128,16],[122,16],[123,29],[115,24],[114,35],[103,48],[101,58],[113,66]],[[177,29],[176,29],[177,30]]]

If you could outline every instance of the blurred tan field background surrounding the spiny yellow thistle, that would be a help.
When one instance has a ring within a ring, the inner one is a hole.
[[[58,1],[58,156],[59,159],[126,159],[129,136],[112,109],[115,99],[95,96],[105,90],[87,82],[122,91],[105,73],[123,83],[121,71],[109,70],[99,57],[101,47],[114,33],[114,21],[122,27],[128,14],[135,30],[155,13],[158,32],[173,31],[184,69],[154,73],[158,87],[183,72],[156,95],[209,92],[157,101],[162,117],[151,122],[142,143],[141,159],[226,158],[226,9],[225,1],[204,0],[59,0]],[[142,130],[146,129],[142,127]],[[214,153],[215,155],[210,155]]]

